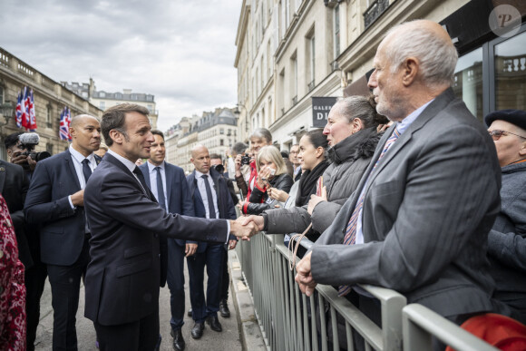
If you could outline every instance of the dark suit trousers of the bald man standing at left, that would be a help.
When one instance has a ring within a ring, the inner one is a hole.
[[[88,236],[84,239],[79,258],[71,266],[47,265],[51,284],[53,320],[53,349],[76,350],[76,314],[79,307],[81,278],[90,262]]]

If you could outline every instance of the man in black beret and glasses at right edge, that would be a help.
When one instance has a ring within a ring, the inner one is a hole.
[[[496,111],[485,122],[502,167],[501,213],[488,236],[493,297],[526,324],[526,112]]]

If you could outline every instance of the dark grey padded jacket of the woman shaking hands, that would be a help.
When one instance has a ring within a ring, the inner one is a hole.
[[[332,163],[323,174],[327,201],[317,204],[312,217],[307,212],[307,206],[265,211],[268,232],[301,233],[311,221],[318,233],[328,228],[342,204],[356,190],[381,137],[382,134],[371,127],[356,132],[329,149],[329,161]]]

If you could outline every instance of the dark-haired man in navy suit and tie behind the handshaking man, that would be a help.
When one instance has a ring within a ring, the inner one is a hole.
[[[195,216],[193,201],[184,171],[164,161],[166,148],[164,134],[151,131],[155,141],[151,143],[150,159],[139,168],[155,199],[169,213]],[[161,177],[161,178],[160,178]],[[161,287],[168,278],[170,288],[171,334],[173,348],[184,350],[185,342],[180,328],[184,325],[184,258],[196,252],[197,241],[167,239],[161,236]],[[191,277],[190,277],[191,280]]]

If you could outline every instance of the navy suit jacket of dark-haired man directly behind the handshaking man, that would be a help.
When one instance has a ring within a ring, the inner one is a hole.
[[[144,175],[146,184],[150,187],[157,187],[157,184],[151,184],[150,171],[148,170],[148,163],[144,163],[139,167]],[[164,162],[164,172],[166,175],[166,203],[168,204],[168,211],[170,213],[178,213],[185,216],[195,216],[193,210],[193,201],[190,197],[190,191],[184,171],[182,168]],[[161,287],[166,284],[166,276],[168,274],[168,241],[167,238],[161,236]],[[197,241],[172,239],[177,245],[184,246],[187,242],[196,244]]]

